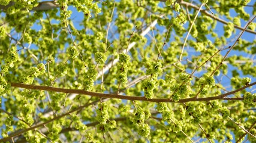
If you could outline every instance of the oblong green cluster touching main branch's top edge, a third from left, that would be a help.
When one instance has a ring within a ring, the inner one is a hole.
[[[85,91],[91,91],[94,87],[94,82],[97,79],[98,71],[90,68],[84,76],[83,86],[85,86]]]

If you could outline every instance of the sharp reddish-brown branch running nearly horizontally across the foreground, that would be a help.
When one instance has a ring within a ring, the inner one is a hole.
[[[227,92],[226,94],[221,94],[216,97],[206,97],[206,98],[185,98],[179,100],[179,103],[183,102],[191,102],[191,101],[211,101],[211,100],[243,100],[243,98],[226,98],[228,95],[232,95],[236,92],[242,91],[250,86],[256,85],[256,82],[253,82],[249,85],[243,86],[242,88],[236,89],[235,91]],[[89,95],[92,97],[99,97],[99,98],[116,98],[121,100],[135,100],[135,101],[149,101],[149,102],[174,102],[170,100],[170,98],[152,98],[147,99],[144,97],[132,97],[132,96],[125,96],[119,94],[103,94],[98,92],[90,92],[84,91],[82,89],[65,89],[65,88],[54,88],[50,86],[40,86],[40,85],[25,85],[23,83],[11,83],[12,87],[16,88],[25,88],[25,89],[35,89],[35,90],[42,90],[42,91],[53,91],[53,92],[62,92],[66,94],[82,94],[82,95]],[[256,101],[256,100],[254,100]]]

